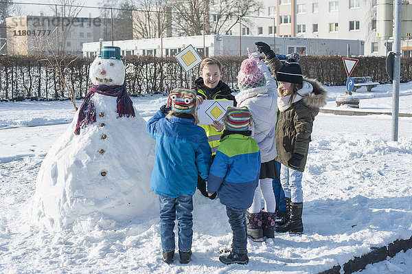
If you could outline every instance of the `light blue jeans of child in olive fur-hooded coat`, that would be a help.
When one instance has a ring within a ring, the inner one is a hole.
[[[290,198],[293,203],[302,203],[304,201],[302,175],[303,173],[299,170],[293,170],[286,165],[280,167],[280,183],[282,183],[285,197]]]

